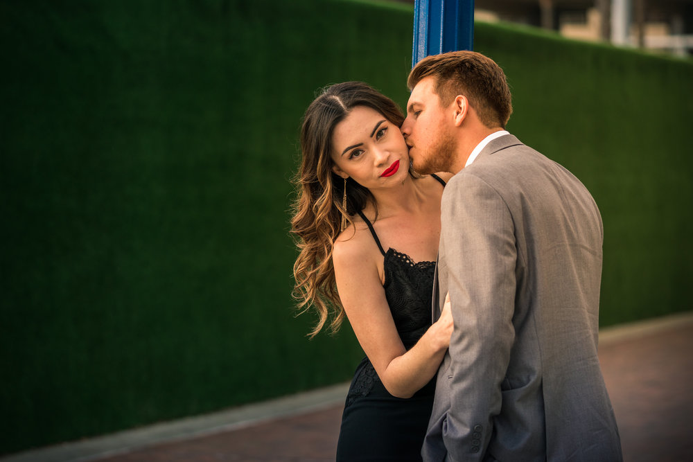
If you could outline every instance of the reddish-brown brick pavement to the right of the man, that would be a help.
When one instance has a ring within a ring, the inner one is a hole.
[[[626,462],[693,461],[693,325],[599,348]]]

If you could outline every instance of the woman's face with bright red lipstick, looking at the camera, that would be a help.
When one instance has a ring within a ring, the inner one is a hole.
[[[332,147],[333,171],[366,188],[387,188],[409,175],[409,151],[399,127],[370,107],[354,107],[335,125]]]

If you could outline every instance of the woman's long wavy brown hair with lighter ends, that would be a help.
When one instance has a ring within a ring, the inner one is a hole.
[[[387,96],[363,82],[343,82],[322,89],[306,109],[301,127],[302,159],[294,179],[297,199],[291,220],[291,232],[300,250],[294,264],[293,296],[299,314],[311,307],[317,310],[318,322],[311,338],[328,321],[332,333],[344,321],[332,263],[334,242],[341,231],[342,214],[353,223],[351,216],[373,201],[367,188],[349,178],[344,210],[344,179],[332,170],[333,130],[357,106],[375,109],[396,127],[404,121],[401,109]]]

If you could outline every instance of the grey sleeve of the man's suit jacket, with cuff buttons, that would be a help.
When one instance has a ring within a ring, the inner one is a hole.
[[[455,329],[443,439],[453,461],[476,461],[484,457],[501,408],[514,341],[517,251],[511,213],[494,188],[464,172],[448,188],[441,240]]]

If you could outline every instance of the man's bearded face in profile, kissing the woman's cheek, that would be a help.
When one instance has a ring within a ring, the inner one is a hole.
[[[416,84],[401,127],[414,170],[422,175],[452,172],[457,148],[457,139],[451,131],[454,109],[452,105],[441,107],[434,87],[433,77],[423,78]]]

